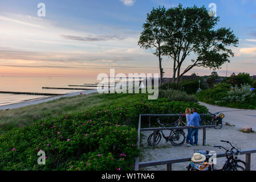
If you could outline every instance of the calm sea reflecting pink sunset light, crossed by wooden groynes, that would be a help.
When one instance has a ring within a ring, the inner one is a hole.
[[[70,93],[82,90],[42,89],[44,87],[68,88],[68,85],[94,84],[93,77],[0,77],[0,91],[37,92],[37,93]],[[76,87],[79,88],[79,87]],[[82,87],[87,88],[87,87]],[[91,89],[93,89],[92,87]],[[44,98],[48,96],[30,96],[23,94],[1,94],[0,106]]]

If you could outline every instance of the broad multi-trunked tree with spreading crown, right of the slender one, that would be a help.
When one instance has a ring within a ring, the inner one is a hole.
[[[228,47],[236,47],[238,38],[230,28],[216,28],[219,17],[210,16],[204,6],[184,8],[178,5],[168,10],[159,7],[155,11],[160,10],[162,16],[157,16],[157,22],[161,22],[158,37],[161,37],[162,45],[158,49],[160,53],[156,53],[172,58],[173,82],[179,82],[194,67],[215,70],[230,62],[234,53]],[[153,16],[147,23],[153,23],[155,19]],[[151,41],[153,39],[156,41],[155,36],[151,36]],[[190,55],[195,58],[191,59]],[[181,71],[181,68],[184,69]]]

